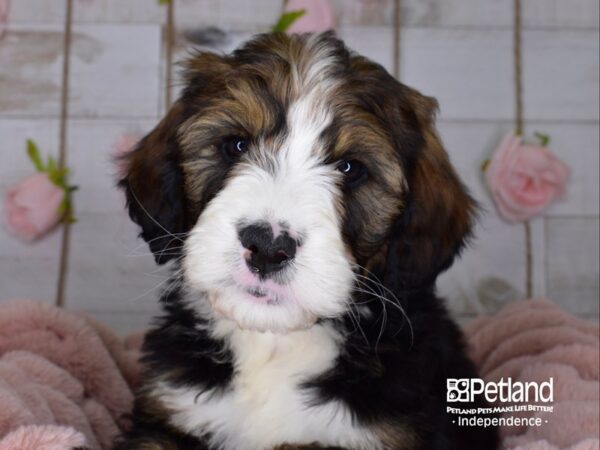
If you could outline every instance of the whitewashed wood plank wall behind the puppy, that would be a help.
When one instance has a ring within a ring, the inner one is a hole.
[[[197,43],[227,51],[275,21],[281,0],[174,0],[174,60]],[[334,0],[349,46],[392,69],[393,0]],[[480,164],[514,122],[511,0],[402,0],[400,78],[438,98],[439,129],[485,211],[477,240],[440,283],[457,316],[500,305],[492,283],[522,295],[522,226],[497,218]],[[0,40],[0,190],[31,172],[24,143],[58,153],[65,1],[11,2]],[[568,310],[598,318],[599,6],[597,0],[523,0],[526,132],[552,137],[571,167],[566,198],[532,223],[534,287]],[[73,0],[67,161],[80,186],[71,232],[66,306],[118,330],[146,325],[166,272],[122,209],[110,156],[127,132],[164,112],[166,7],[155,0]],[[173,95],[178,92],[174,76]],[[0,301],[54,302],[61,233],[34,245],[0,229]],[[486,288],[487,286],[487,288]]]

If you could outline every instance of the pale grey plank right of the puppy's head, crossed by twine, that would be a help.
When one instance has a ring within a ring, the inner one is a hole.
[[[526,31],[523,36],[526,119],[598,120],[598,33]],[[436,96],[442,117],[513,117],[509,31],[410,28],[402,34],[401,56],[401,79]]]

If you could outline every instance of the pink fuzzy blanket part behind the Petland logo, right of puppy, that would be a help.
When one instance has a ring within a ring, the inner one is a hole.
[[[548,420],[540,427],[506,427],[504,448],[599,449],[600,329],[547,300],[524,300],[465,327],[471,357],[488,381],[554,379],[554,411],[523,412]]]

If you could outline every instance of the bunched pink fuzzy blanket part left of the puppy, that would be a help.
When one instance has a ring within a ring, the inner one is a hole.
[[[0,449],[70,448],[81,437],[111,448],[128,425],[138,358],[139,347],[76,314],[0,303]]]

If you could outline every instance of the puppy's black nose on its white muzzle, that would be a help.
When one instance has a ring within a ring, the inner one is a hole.
[[[296,255],[296,241],[287,231],[274,237],[269,224],[253,224],[240,229],[239,239],[250,251],[246,263],[261,277],[281,270]]]

